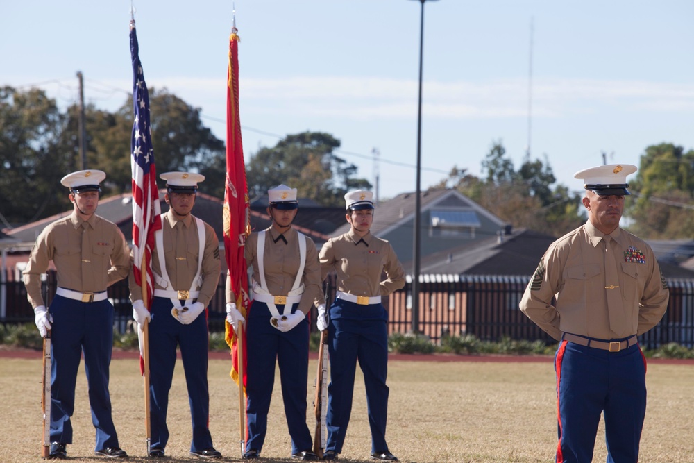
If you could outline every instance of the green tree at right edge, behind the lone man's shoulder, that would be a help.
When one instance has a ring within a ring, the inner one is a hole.
[[[629,230],[647,239],[694,237],[693,150],[685,153],[671,143],[648,146],[629,191]]]

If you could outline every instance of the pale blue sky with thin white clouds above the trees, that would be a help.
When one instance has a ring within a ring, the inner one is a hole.
[[[130,98],[130,0],[0,5],[0,85],[41,87],[64,107],[81,71],[87,103]],[[325,132],[357,176],[378,178],[379,199],[416,190],[419,1],[134,6],[148,87],[201,108],[222,140],[235,10],[246,163],[288,134]],[[495,142],[516,169],[529,151],[575,191],[573,174],[604,159],[638,166],[652,144],[694,149],[693,19],[691,0],[427,1],[421,188],[452,167],[485,176]]]

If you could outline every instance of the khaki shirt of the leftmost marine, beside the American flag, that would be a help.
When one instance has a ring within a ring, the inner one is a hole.
[[[79,292],[103,292],[126,278],[130,269],[128,244],[116,224],[96,214],[85,221],[74,210],[46,226],[31,250],[24,285],[33,308],[45,305],[41,275],[51,260],[58,286]]]

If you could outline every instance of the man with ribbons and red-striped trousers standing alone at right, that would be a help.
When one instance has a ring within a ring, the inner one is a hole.
[[[646,367],[636,337],[657,325],[670,293],[650,246],[619,227],[635,171],[604,165],[575,174],[588,221],[550,245],[521,300],[559,341],[557,462],[593,461],[601,413],[607,462],[638,461]]]

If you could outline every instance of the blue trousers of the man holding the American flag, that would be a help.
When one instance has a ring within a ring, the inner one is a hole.
[[[165,448],[169,441],[167,410],[178,345],[180,357],[183,360],[193,426],[190,451],[199,452],[212,447],[212,436],[208,428],[210,393],[208,391],[207,311],[201,313],[189,325],[183,325],[171,315],[173,307],[171,300],[162,297],[155,297],[152,303],[152,319],[149,323],[151,446]]]

